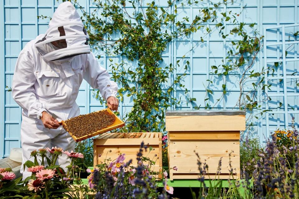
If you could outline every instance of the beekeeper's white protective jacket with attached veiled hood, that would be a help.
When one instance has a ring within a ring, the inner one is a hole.
[[[35,123],[45,110],[66,120],[79,114],[75,100],[83,78],[99,89],[104,99],[116,96],[116,83],[90,52],[80,16],[70,2],[64,2],[55,11],[47,32],[21,51],[12,95],[31,122]]]

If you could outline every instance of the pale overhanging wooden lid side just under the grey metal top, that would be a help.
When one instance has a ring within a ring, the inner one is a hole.
[[[245,115],[166,116],[166,131],[244,131]]]

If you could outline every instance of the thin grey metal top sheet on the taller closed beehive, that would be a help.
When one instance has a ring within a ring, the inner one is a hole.
[[[188,115],[245,115],[245,111],[235,110],[167,110],[166,116],[188,116]]]

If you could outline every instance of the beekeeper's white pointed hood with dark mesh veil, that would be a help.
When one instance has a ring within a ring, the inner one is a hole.
[[[56,61],[90,53],[89,36],[71,2],[61,3],[54,12],[49,29],[35,47],[46,61]]]

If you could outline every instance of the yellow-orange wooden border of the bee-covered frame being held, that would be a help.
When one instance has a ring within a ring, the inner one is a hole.
[[[78,142],[78,141],[86,140],[87,138],[90,138],[90,137],[97,136],[97,135],[99,135],[99,134],[101,134],[101,133],[104,133],[104,132],[107,132],[107,131],[112,131],[112,130],[114,130],[114,129],[116,129],[116,128],[120,128],[120,127],[125,126],[125,123],[124,123],[120,118],[118,118],[118,117],[116,116],[116,114],[114,114],[114,113],[111,111],[111,109],[107,108],[107,109],[103,109],[103,110],[100,110],[100,111],[105,111],[105,110],[107,110],[107,112],[108,112],[110,115],[114,115],[114,117],[115,117],[115,121],[114,121],[113,124],[107,126],[106,128],[103,128],[103,129],[101,129],[101,130],[99,130],[99,131],[93,132],[93,133],[91,133],[91,134],[88,134],[88,135],[85,135],[85,136],[82,136],[82,137],[76,137],[76,136],[74,136],[71,132],[69,132],[69,134],[72,136],[72,138],[73,138],[76,142]],[[97,111],[97,112],[99,112],[99,111]],[[66,125],[66,123],[65,123],[64,121],[59,122],[59,124],[60,124],[60,125],[63,125],[64,129],[68,132],[68,126]]]

